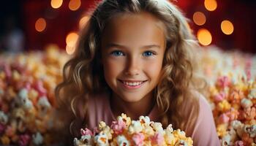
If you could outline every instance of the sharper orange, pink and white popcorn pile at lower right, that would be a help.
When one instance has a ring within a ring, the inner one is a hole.
[[[222,145],[256,143],[256,80],[221,76],[210,89],[210,99]]]

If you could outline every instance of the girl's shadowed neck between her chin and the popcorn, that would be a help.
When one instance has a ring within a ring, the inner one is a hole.
[[[121,115],[121,113],[125,113],[128,117],[132,118],[132,120],[138,120],[140,115],[148,115],[153,109],[155,104],[153,95],[153,92],[151,92],[140,101],[127,102],[113,93],[113,96],[110,98],[113,115],[117,117]]]

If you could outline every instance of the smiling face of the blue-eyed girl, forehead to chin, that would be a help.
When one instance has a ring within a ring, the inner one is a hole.
[[[127,102],[153,96],[165,53],[165,30],[157,18],[146,12],[112,18],[101,50],[105,80],[114,96]]]

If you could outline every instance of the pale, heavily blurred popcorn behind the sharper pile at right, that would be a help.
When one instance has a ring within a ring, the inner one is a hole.
[[[214,85],[219,76],[229,76],[233,82],[256,78],[256,55],[241,53],[237,50],[223,51],[216,46],[197,48],[199,73]]]

